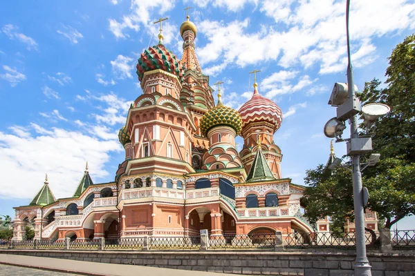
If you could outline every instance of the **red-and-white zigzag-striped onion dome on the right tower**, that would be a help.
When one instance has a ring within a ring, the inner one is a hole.
[[[243,127],[250,123],[266,121],[274,125],[274,132],[281,126],[282,112],[277,103],[259,95],[258,84],[254,83],[254,95],[241,106],[239,114],[243,121]]]

